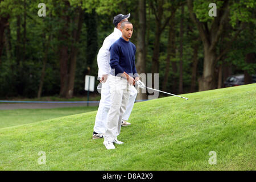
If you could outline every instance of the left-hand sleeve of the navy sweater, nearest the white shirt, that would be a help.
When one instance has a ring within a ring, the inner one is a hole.
[[[110,67],[112,69],[115,69],[115,75],[117,75],[118,73],[123,73],[123,69],[122,67],[119,65],[119,46],[118,44],[113,44],[110,47]]]

